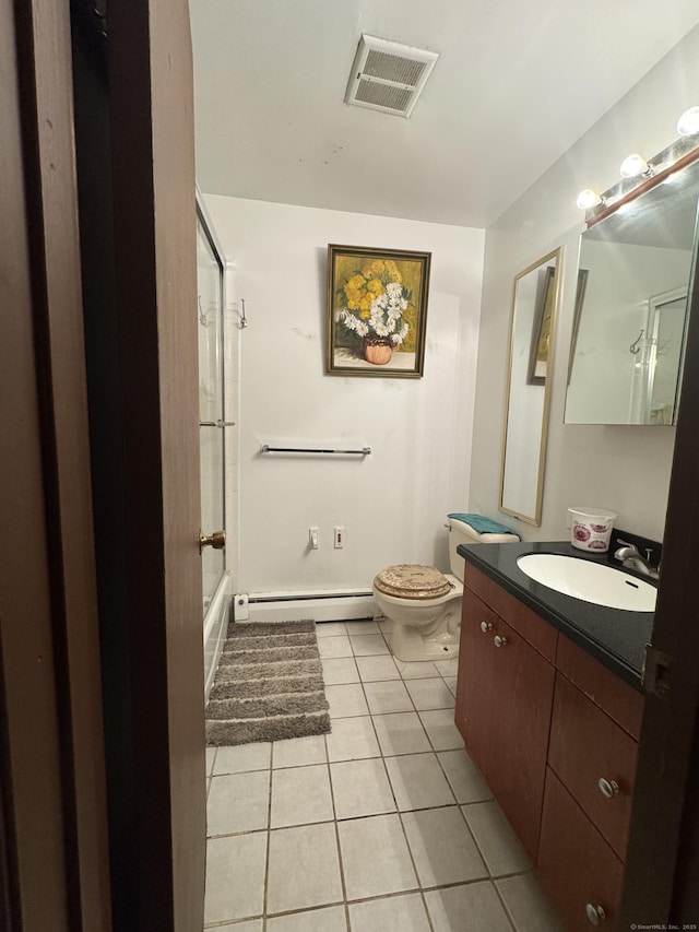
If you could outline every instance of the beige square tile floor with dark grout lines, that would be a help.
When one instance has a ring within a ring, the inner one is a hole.
[[[559,932],[453,723],[457,661],[318,625],[332,733],[208,750],[205,929]]]

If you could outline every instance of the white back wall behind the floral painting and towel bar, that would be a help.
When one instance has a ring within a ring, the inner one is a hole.
[[[238,591],[368,589],[392,563],[448,567],[466,506],[484,232],[206,197],[233,262],[239,332]],[[422,379],[324,374],[329,243],[430,251]],[[370,446],[359,458],[260,456],[260,444]],[[334,550],[332,531],[345,528]],[[308,548],[317,526],[320,547]]]

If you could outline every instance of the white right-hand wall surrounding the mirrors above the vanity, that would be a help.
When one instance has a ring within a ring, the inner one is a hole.
[[[564,425],[584,228],[574,200],[582,188],[615,184],[629,152],[650,157],[670,144],[677,117],[698,98],[699,30],[694,30],[487,231],[470,507],[496,518],[512,280],[540,256],[564,247],[543,519],[540,528],[514,521],[524,539],[565,539],[571,505],[612,508],[619,514],[617,526],[662,539],[675,429]]]

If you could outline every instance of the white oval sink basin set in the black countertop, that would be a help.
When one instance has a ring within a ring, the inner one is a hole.
[[[573,599],[627,612],[655,611],[655,587],[614,566],[557,553],[524,554],[517,564],[530,579]]]

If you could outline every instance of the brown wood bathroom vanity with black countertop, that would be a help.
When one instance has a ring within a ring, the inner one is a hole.
[[[459,553],[457,727],[566,928],[614,929],[653,613],[564,595],[517,564],[525,553],[606,554],[581,556],[568,543]]]

